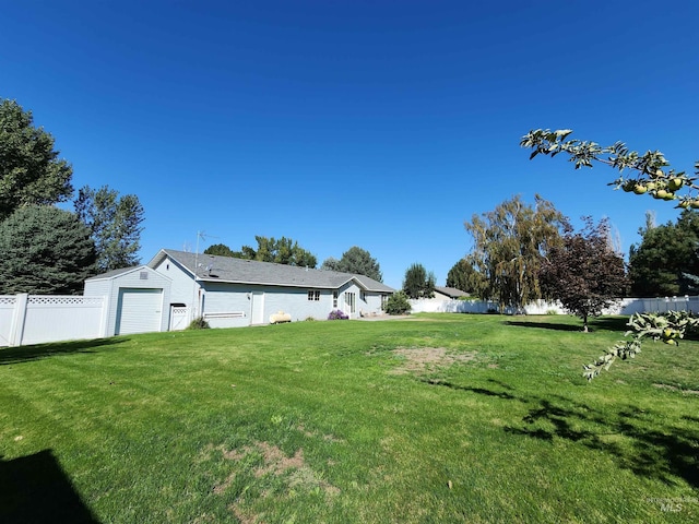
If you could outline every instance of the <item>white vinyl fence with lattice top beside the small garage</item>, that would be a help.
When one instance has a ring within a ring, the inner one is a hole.
[[[105,302],[105,297],[2,295],[0,346],[103,337]]]

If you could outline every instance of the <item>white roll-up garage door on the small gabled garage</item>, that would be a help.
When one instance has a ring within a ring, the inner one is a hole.
[[[119,289],[117,335],[161,331],[163,289]]]

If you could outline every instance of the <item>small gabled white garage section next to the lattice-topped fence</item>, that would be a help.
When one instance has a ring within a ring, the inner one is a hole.
[[[167,331],[171,281],[149,266],[111,271],[85,281],[85,296],[106,296],[105,333]]]

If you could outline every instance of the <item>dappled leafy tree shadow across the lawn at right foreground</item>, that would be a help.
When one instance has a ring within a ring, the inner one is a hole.
[[[471,388],[449,382],[436,385],[476,394],[513,400],[532,405],[522,424],[506,426],[505,431],[544,441],[565,439],[611,455],[620,467],[636,475],[677,485],[683,478],[699,488],[699,430],[662,425],[662,414],[625,405],[601,413],[587,404],[560,395],[546,398],[514,393],[508,384],[489,380],[494,388]],[[508,391],[498,391],[498,390]],[[683,419],[695,421],[692,416]]]

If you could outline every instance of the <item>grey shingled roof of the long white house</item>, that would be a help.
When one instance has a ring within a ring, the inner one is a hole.
[[[367,291],[393,293],[395,290],[364,275],[311,270],[233,257],[196,254],[170,249],[162,249],[147,265],[155,267],[166,257],[177,262],[191,275],[194,274],[194,267],[198,266],[197,279],[203,282],[337,289],[345,283],[355,281],[359,287]]]

